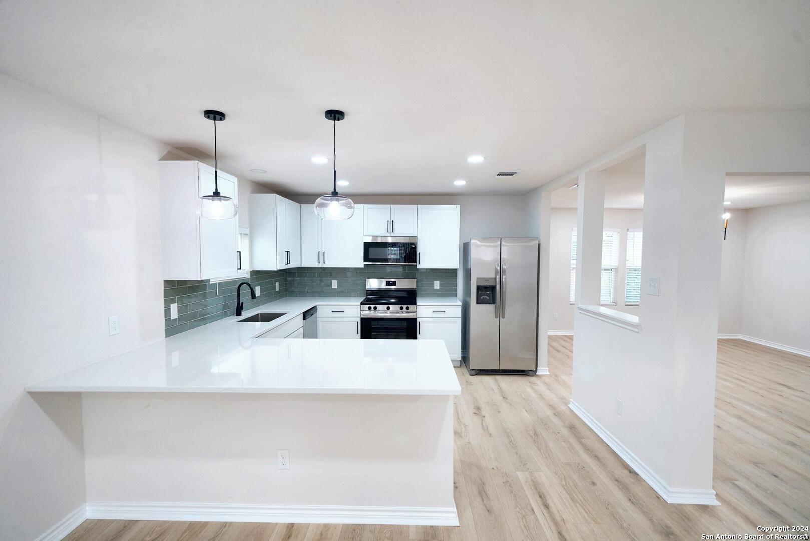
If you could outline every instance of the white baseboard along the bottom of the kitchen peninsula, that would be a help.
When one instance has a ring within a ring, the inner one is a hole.
[[[455,506],[431,508],[90,502],[87,504],[87,518],[139,521],[458,526]]]

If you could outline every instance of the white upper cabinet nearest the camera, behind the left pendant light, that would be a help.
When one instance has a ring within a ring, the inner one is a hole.
[[[199,161],[158,164],[164,279],[235,276],[238,218],[204,220],[197,215],[200,196],[214,191],[214,168]],[[222,171],[218,171],[217,177],[220,193],[237,200],[237,178]]]

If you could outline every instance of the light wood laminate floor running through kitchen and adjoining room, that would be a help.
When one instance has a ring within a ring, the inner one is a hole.
[[[810,359],[719,341],[714,490],[722,505],[669,505],[569,410],[572,340],[548,342],[551,376],[457,369],[458,528],[88,520],[66,539],[701,539],[810,525]]]

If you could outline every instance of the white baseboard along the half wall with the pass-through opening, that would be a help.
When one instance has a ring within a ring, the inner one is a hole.
[[[591,417],[577,402],[572,400],[569,402],[568,406],[573,410],[573,413],[577,414],[579,419],[582,419],[591,430],[596,432],[596,435],[602,438],[623,461],[627,462],[627,465],[633,468],[650,487],[653,487],[653,490],[658,492],[659,496],[668,504],[720,505],[720,502],[714,497],[715,494],[713,490],[667,487],[667,483],[664,483],[658,474],[650,470],[630,449],[627,449],[624,444],[616,440],[605,427],[599,424],[599,421]]]

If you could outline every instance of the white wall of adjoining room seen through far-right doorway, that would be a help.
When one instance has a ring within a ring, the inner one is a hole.
[[[719,333],[810,350],[810,201],[733,211]]]

